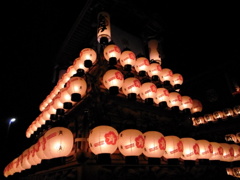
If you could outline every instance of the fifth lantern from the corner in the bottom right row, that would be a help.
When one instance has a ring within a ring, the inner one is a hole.
[[[183,153],[181,159],[196,160],[199,156],[199,145],[193,138],[181,138],[183,143]]]

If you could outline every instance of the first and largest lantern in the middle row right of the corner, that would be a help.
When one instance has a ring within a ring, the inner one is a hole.
[[[123,74],[117,69],[110,69],[103,75],[103,85],[109,90],[110,94],[118,94],[123,81]]]

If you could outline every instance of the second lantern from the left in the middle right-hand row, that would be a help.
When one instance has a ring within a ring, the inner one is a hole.
[[[136,99],[136,96],[140,93],[140,88],[141,82],[135,77],[129,77],[123,81],[122,91],[129,99]]]

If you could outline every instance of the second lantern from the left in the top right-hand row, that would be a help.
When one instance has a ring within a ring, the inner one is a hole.
[[[129,49],[123,50],[120,55],[120,64],[124,70],[131,71],[136,63],[136,55]]]

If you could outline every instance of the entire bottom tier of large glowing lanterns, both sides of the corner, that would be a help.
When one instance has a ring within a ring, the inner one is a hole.
[[[236,144],[195,140],[191,137],[164,136],[158,131],[142,133],[137,129],[118,131],[106,125],[93,128],[88,137],[90,150],[95,155],[113,154],[118,149],[124,156],[145,155],[148,158],[197,160],[208,159],[223,162],[240,160],[240,146]],[[68,156],[73,148],[73,134],[63,127],[48,130],[38,142],[10,162],[4,169],[8,177],[38,165],[44,159]]]

